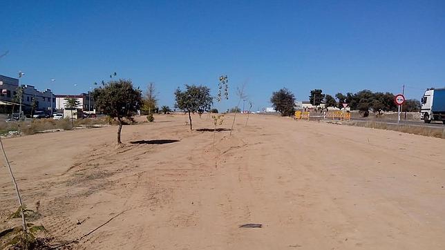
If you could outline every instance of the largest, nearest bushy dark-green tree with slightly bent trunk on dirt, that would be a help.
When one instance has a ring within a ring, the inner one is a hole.
[[[133,115],[138,112],[142,105],[142,91],[133,88],[130,80],[119,79],[109,81],[100,88],[93,90],[93,98],[98,109],[105,115],[117,119],[119,128],[117,129],[117,144],[122,144],[120,133],[123,119],[133,120]]]

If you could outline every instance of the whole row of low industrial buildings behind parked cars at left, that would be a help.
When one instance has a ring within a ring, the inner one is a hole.
[[[32,105],[35,105],[35,110],[42,110],[45,113],[61,112],[66,107],[66,98],[75,98],[79,101],[77,108],[83,112],[95,113],[95,103],[89,93],[82,93],[80,95],[55,95],[50,89],[39,91],[35,86],[19,85],[19,79],[0,75],[0,104],[1,106],[19,106],[20,99],[17,98],[19,88],[23,88],[23,95],[21,98],[22,110],[29,113]],[[15,110],[18,110],[15,109]],[[51,112],[53,110],[53,112]]]

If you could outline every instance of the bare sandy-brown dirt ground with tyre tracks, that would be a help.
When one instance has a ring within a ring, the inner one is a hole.
[[[444,249],[445,140],[239,115],[212,148],[186,116],[155,119],[124,126],[123,148],[115,126],[4,140],[35,223],[74,249]]]

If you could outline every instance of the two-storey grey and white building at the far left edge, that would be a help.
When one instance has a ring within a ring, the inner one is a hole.
[[[14,102],[14,97],[19,89],[19,79],[0,75],[0,100],[5,102]],[[45,113],[51,112],[51,106],[55,106],[55,95],[51,90],[46,89],[41,92],[31,85],[22,85],[23,97],[21,99],[22,110],[27,112],[31,110],[32,104],[35,104],[35,110],[44,110]],[[6,93],[3,93],[6,90]],[[51,104],[53,102],[53,104]],[[18,104],[19,102],[17,102]]]

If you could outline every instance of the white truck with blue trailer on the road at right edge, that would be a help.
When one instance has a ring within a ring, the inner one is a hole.
[[[442,121],[445,124],[445,88],[428,88],[421,103],[420,118],[425,123]]]

